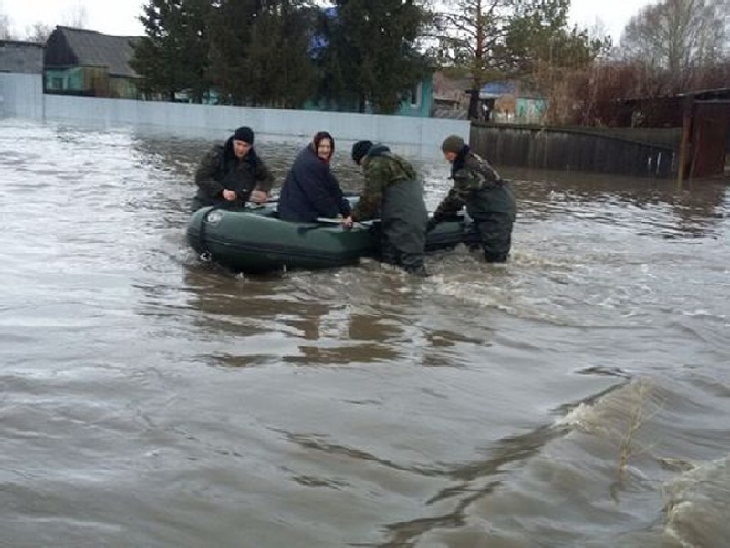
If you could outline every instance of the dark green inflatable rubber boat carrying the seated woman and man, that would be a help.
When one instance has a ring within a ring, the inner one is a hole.
[[[475,243],[469,225],[464,216],[438,224],[428,233],[426,251]],[[380,247],[377,221],[352,229],[328,219],[287,222],[277,217],[276,203],[239,210],[203,207],[188,222],[187,241],[202,258],[247,273],[357,264],[360,257],[377,256]]]

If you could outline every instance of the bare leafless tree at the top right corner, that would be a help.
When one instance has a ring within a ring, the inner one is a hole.
[[[696,74],[725,55],[728,0],[664,0],[633,16],[621,37],[623,57],[663,73],[663,92],[691,87]]]

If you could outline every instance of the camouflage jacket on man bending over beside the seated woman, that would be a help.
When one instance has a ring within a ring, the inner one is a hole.
[[[356,221],[378,216],[383,193],[388,187],[416,179],[413,166],[384,145],[375,145],[370,149],[362,159],[362,172],[365,184],[360,199],[352,209],[352,218]]]

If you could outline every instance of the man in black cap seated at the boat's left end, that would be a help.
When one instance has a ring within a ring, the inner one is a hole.
[[[208,151],[195,171],[195,184],[193,212],[208,205],[236,208],[249,200],[266,202],[274,178],[255,153],[254,131],[238,128],[223,145]]]

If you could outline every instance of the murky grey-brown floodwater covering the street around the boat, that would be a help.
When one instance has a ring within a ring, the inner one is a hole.
[[[184,237],[224,137],[0,120],[1,546],[727,545],[725,181],[505,171],[506,265],[247,277]]]

